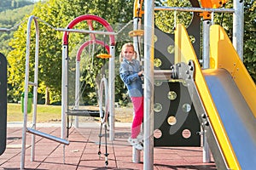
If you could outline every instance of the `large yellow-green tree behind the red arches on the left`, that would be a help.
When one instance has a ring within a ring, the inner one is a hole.
[[[125,9],[123,8],[125,7]],[[113,11],[121,11],[115,12]],[[84,1],[74,0],[72,2],[67,0],[52,0],[46,3],[37,3],[32,14],[37,16],[40,20],[44,20],[50,26],[64,28],[67,24],[82,14],[96,14],[103,16],[102,18],[108,20],[111,24],[121,21],[132,19],[132,2],[131,1]],[[109,18],[108,18],[109,17]],[[40,51],[39,51],[39,90],[44,94],[45,89],[49,89],[52,101],[61,100],[61,38],[62,32],[53,30],[50,26],[47,26],[44,22],[39,22],[40,28]],[[85,25],[79,25],[76,29],[84,29]],[[98,28],[96,26],[96,28]],[[101,28],[99,28],[101,29]],[[23,91],[23,81],[25,73],[25,53],[26,53],[26,23],[20,26],[18,31],[15,31],[14,38],[10,42],[10,46],[14,48],[8,55],[11,69],[9,69],[9,82],[12,83],[15,94],[20,94]],[[32,43],[31,43],[31,56],[34,56],[35,46],[35,33],[32,29]],[[69,48],[73,49],[79,43],[82,42],[84,35],[71,33],[69,41]],[[31,63],[33,57],[31,57]],[[102,67],[102,61],[98,59],[98,63],[95,65],[96,70],[100,70]],[[32,68],[31,64],[31,68]],[[88,69],[89,66],[86,68]],[[95,78],[95,71],[90,77]],[[31,71],[31,79],[33,77],[33,71]],[[92,78],[92,79],[93,79]],[[91,80],[89,77],[84,77],[84,81]],[[46,88],[47,87],[47,88]],[[88,87],[89,90],[91,87]],[[94,94],[96,96],[96,94]],[[90,99],[88,99],[90,101]]]

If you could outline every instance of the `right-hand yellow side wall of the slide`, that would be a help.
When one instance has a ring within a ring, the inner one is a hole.
[[[256,117],[255,83],[236,53],[230,38],[221,26],[211,26],[210,44],[210,67],[212,69],[224,68],[230,72],[231,77],[233,77],[241,94],[252,110],[254,117]]]

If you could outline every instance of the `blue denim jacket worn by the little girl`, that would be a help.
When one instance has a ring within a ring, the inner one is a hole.
[[[131,61],[123,59],[123,62],[121,62],[119,68],[120,77],[125,82],[130,97],[143,96],[143,81],[137,74],[139,71],[140,63],[137,59],[132,59]]]

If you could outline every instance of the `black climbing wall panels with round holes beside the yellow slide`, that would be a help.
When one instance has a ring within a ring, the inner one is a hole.
[[[192,7],[199,7],[196,0],[190,0]],[[198,14],[193,14],[187,30],[195,54],[200,56],[200,22]],[[174,64],[174,35],[154,31],[154,70],[170,70]],[[154,146],[200,146],[201,131],[194,105],[189,97],[185,82],[170,79],[154,79]]]

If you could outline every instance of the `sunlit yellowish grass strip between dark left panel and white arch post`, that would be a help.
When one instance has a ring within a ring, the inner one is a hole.
[[[37,122],[61,122],[61,105],[38,105],[37,112]],[[32,112],[27,114],[27,121],[32,122]],[[7,105],[7,122],[23,122],[20,104]]]

